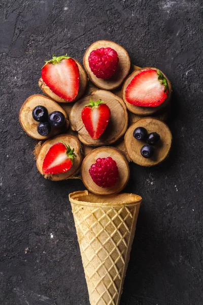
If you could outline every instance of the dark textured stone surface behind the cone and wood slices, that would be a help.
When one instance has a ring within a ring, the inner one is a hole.
[[[84,186],[40,175],[18,113],[41,93],[45,59],[67,52],[82,62],[92,42],[108,39],[134,64],[160,68],[174,88],[170,158],[155,168],[130,165],[126,191],[144,200],[121,305],[202,305],[202,1],[2,0],[0,7],[0,304],[89,304],[67,197]]]

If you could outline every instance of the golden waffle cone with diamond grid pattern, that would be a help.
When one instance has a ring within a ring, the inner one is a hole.
[[[91,305],[118,305],[142,198],[70,194]]]

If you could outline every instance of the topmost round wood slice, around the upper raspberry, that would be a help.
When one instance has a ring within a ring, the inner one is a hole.
[[[91,53],[91,51],[99,49],[99,48],[107,48],[110,47],[114,49],[118,53],[119,57],[119,64],[117,67],[117,70],[115,74],[109,78],[109,79],[101,79],[97,78],[91,71],[89,67],[88,58]],[[118,88],[126,76],[129,74],[130,70],[130,58],[127,53],[127,51],[118,45],[117,43],[109,40],[99,40],[94,42],[89,46],[87,51],[85,52],[84,58],[83,58],[83,65],[84,68],[90,78],[90,80],[95,84],[97,87],[105,90],[113,90],[115,88]]]

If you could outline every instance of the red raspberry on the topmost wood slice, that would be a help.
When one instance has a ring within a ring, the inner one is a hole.
[[[89,67],[97,78],[108,79],[118,67],[118,54],[112,48],[100,48],[91,51],[89,55]]]

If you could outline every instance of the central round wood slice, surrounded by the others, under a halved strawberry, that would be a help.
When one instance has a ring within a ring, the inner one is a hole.
[[[99,139],[92,139],[88,134],[81,118],[81,112],[85,105],[89,104],[90,98],[93,101],[101,99],[111,110],[109,124]],[[106,90],[96,90],[90,96],[82,98],[74,104],[70,113],[71,128],[78,131],[79,140],[90,146],[109,145],[116,142],[126,131],[128,123],[127,108],[121,98]]]

